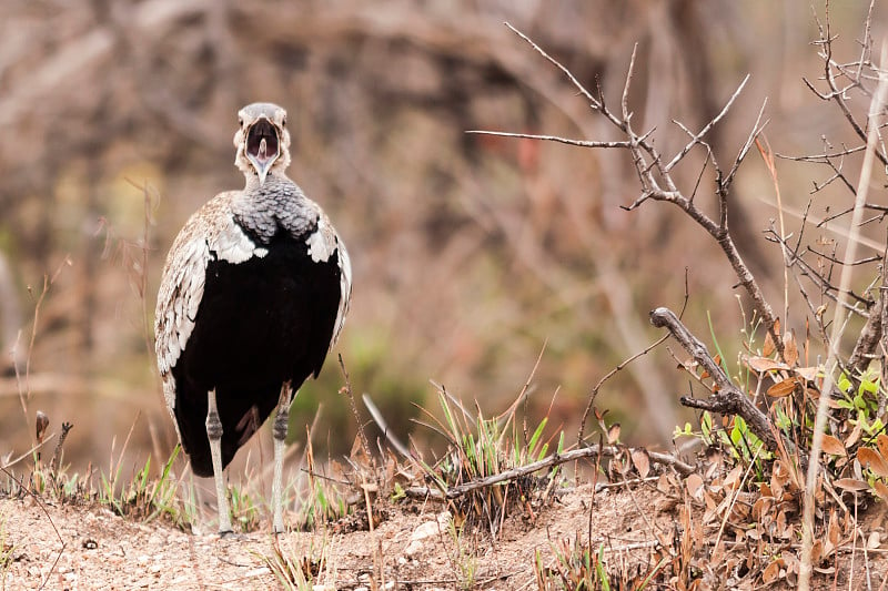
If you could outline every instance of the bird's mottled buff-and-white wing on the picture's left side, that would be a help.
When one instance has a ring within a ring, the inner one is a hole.
[[[213,259],[241,263],[268,252],[234,222],[231,200],[235,194],[221,193],[198,210],[167,255],[154,312],[154,351],[170,409],[175,404],[171,371],[194,329],[208,264]]]

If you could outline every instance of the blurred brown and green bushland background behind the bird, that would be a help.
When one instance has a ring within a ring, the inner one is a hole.
[[[837,60],[859,58],[867,4],[831,2]],[[74,425],[65,461],[77,469],[105,466],[128,437],[134,458],[169,455],[175,432],[152,353],[160,272],[188,216],[243,185],[231,140],[236,111],[253,101],[290,112],[290,175],[326,210],[354,267],[334,354],[402,438],[430,437],[410,418],[414,404],[437,411],[432,383],[492,415],[539,358],[528,411],[548,414],[572,444],[594,385],[660,336],[648,310],[680,308],[686,268],[685,319],[707,343],[722,337],[734,364],[736,277],[674,207],[619,208],[638,195],[626,153],[466,131],[618,139],[507,21],[586,88],[601,83],[610,105],[638,43],[634,123],[656,128],[666,154],[686,143],[672,120],[700,129],[747,73],[709,135],[722,166],[766,98],[776,152],[821,152],[824,135],[834,145],[852,136],[801,80],[824,70],[815,14],[821,2],[796,0],[4,0],[0,456],[28,451],[38,410],[51,431]],[[785,161],[778,173],[787,211],[828,176]],[[677,177],[689,192],[698,174],[687,165]],[[710,175],[702,186],[712,205]],[[829,195],[819,198],[811,211],[823,216]],[[731,230],[781,307],[781,256],[763,235],[774,202],[754,150],[731,194]],[[804,310],[794,320],[804,330]],[[624,440],[667,446],[693,418],[678,405],[689,385],[675,366],[660,348],[602,389],[596,406],[623,424]],[[320,405],[315,447],[349,450],[342,385],[331,355],[296,401],[295,441]],[[270,450],[264,439],[255,445]]]

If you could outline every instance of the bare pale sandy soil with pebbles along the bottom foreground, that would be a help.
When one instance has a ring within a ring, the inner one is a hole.
[[[577,536],[585,540],[592,532],[608,568],[630,573],[653,568],[660,541],[680,544],[678,505],[653,486],[599,490],[592,512],[591,501],[591,487],[581,487],[547,507],[513,512],[495,538],[478,528],[455,536],[450,513],[427,503],[387,508],[373,532],[327,527],[276,539],[268,532],[220,539],[134,522],[102,507],[0,499],[0,589],[281,589],[271,564],[290,561],[314,571],[315,589],[535,590],[537,552],[542,564],[553,567],[553,549]],[[698,520],[702,513],[692,511]],[[871,519],[869,527],[881,530],[881,522]],[[717,528],[710,529],[714,537]],[[848,589],[849,574],[852,589],[866,589],[867,573],[874,588],[884,582],[880,549],[866,557],[859,549],[846,552],[835,563],[838,570],[817,574],[817,588],[837,581]],[[704,573],[699,583],[763,588],[760,577],[718,572]],[[777,588],[789,587],[778,578]]]

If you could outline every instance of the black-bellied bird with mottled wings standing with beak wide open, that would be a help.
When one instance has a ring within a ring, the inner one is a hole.
[[[336,344],[352,292],[345,245],[286,175],[286,111],[252,103],[238,125],[244,187],[204,203],[179,232],[154,312],[167,407],[194,475],[214,478],[221,536],[232,532],[223,470],[275,409],[273,531],[284,531],[290,405]]]

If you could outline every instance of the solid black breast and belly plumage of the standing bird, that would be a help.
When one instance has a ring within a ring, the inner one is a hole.
[[[213,259],[194,330],[173,367],[175,418],[198,476],[212,475],[206,393],[215,389],[223,466],[274,409],[324,363],[340,303],[337,254],[315,263],[305,238],[279,232],[263,257]]]

